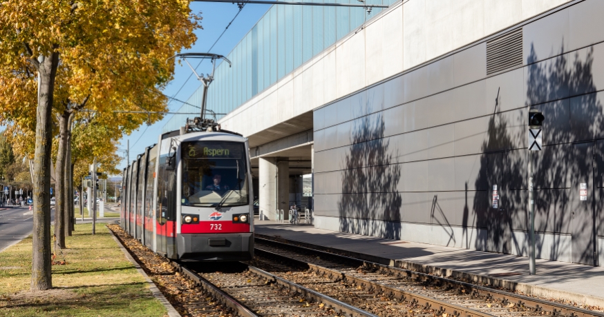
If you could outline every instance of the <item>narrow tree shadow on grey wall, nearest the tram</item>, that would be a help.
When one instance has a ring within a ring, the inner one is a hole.
[[[352,128],[343,160],[342,196],[338,201],[340,231],[399,239],[401,167],[384,138],[384,118],[365,116]]]

